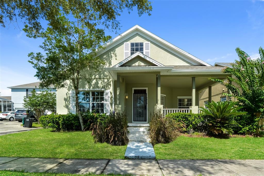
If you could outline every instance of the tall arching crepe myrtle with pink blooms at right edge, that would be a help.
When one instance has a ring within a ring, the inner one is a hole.
[[[239,59],[235,60],[232,68],[224,67],[223,72],[234,77],[227,77],[227,81],[217,78],[209,78],[227,87],[231,94],[243,106],[242,110],[248,112],[252,123],[263,118],[264,111],[264,50],[259,48],[260,58],[251,59],[250,56],[236,48]],[[235,84],[230,84],[230,81]],[[257,128],[257,123],[255,123]]]

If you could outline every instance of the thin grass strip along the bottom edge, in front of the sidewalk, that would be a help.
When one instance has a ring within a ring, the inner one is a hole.
[[[77,176],[79,174],[54,174],[54,173],[29,173],[29,172],[15,172],[15,171],[9,171],[9,170],[0,170],[1,176]],[[84,174],[85,176],[94,176],[95,174]],[[115,175],[119,176],[119,174],[107,174],[107,175]],[[107,176],[106,174],[100,174],[97,176]],[[132,175],[127,175],[132,176]]]

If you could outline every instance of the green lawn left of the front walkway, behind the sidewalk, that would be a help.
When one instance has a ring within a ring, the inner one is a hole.
[[[124,159],[126,146],[94,143],[91,131],[51,132],[51,129],[0,136],[0,156],[39,158]]]

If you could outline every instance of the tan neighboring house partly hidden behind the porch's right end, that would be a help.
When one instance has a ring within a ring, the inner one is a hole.
[[[227,62],[216,62],[214,64],[214,66],[217,67],[232,67],[231,65],[232,63],[227,63]],[[226,101],[226,100],[233,100],[236,101],[236,99],[234,97],[228,97],[227,95],[224,95],[224,93],[228,93],[227,88],[220,84],[220,83],[216,83],[214,85],[211,86],[211,97],[213,101],[217,102],[217,101]],[[200,107],[205,107],[205,104],[208,104],[209,102],[209,88],[206,88],[204,90],[201,90],[199,92],[199,106]]]

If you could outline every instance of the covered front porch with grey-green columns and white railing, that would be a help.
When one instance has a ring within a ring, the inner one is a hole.
[[[114,84],[113,109],[125,110],[129,123],[149,123],[150,113],[155,108],[162,109],[164,115],[190,111],[199,113],[199,91],[209,88],[210,101],[211,86],[215,84],[208,78],[225,79],[227,76],[199,72],[168,74],[158,68],[144,71],[123,69],[112,70],[109,74]]]

